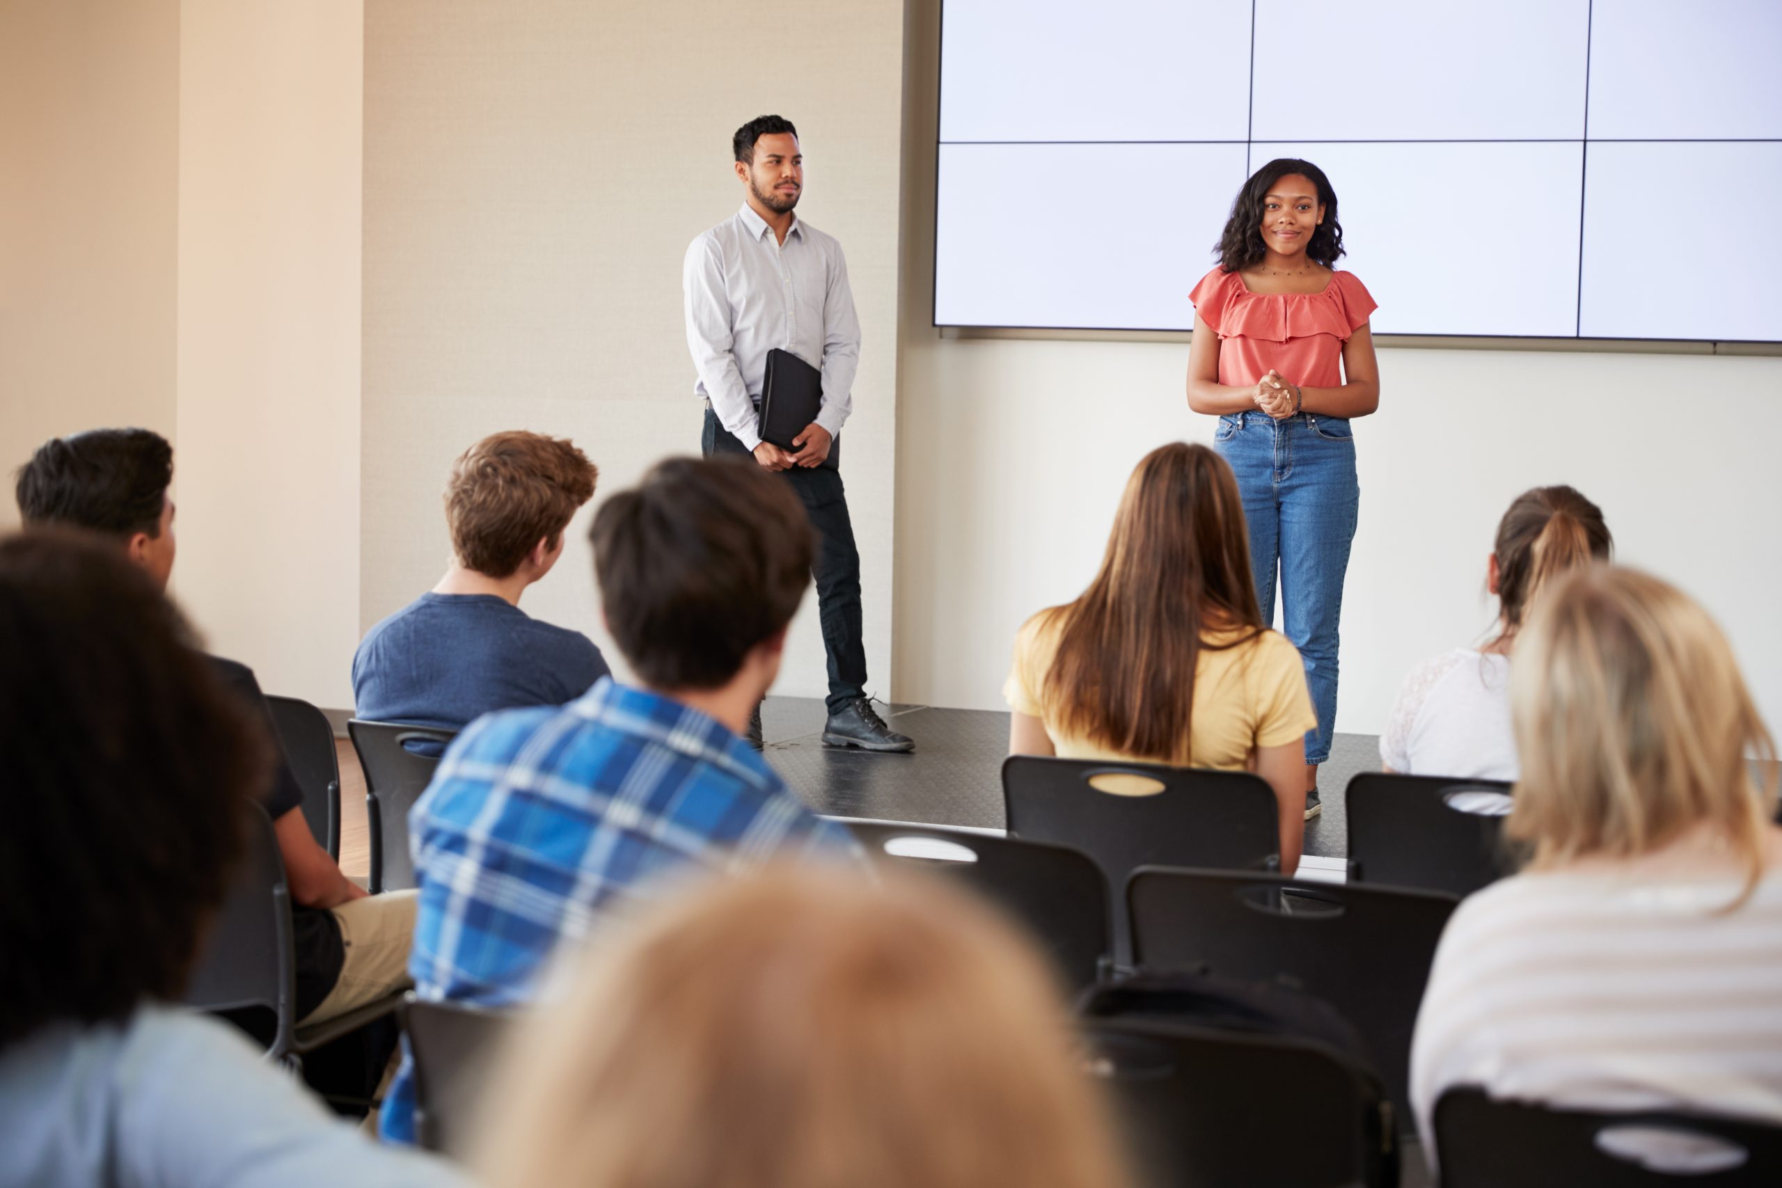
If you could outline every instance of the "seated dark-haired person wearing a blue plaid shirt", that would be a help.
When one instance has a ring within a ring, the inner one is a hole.
[[[560,940],[649,898],[665,873],[743,875],[788,851],[864,864],[741,737],[811,584],[791,488],[748,460],[672,458],[613,495],[590,540],[608,631],[640,684],[602,677],[453,741],[408,816],[421,887],[408,969],[424,999],[531,999]],[[387,1140],[413,1142],[413,1108],[405,1042]]]

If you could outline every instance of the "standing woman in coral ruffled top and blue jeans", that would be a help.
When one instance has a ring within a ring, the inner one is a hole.
[[[1306,818],[1336,723],[1336,625],[1361,488],[1349,420],[1379,408],[1374,299],[1344,255],[1336,192],[1310,160],[1271,160],[1231,205],[1219,265],[1189,296],[1189,408],[1219,417],[1249,522],[1262,622],[1279,582],[1319,714],[1306,734]]]

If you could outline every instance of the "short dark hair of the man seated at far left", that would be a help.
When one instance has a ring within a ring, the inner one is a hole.
[[[168,438],[150,429],[93,429],[45,442],[18,468],[18,513],[27,525],[160,536],[171,483]]]

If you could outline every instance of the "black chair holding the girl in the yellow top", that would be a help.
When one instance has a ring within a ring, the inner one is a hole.
[[[1247,771],[1009,755],[1001,777],[1012,835],[1073,846],[1101,867],[1114,891],[1117,965],[1132,964],[1121,889],[1140,866],[1279,869],[1274,789]],[[1110,793],[1098,782],[1157,791]]]

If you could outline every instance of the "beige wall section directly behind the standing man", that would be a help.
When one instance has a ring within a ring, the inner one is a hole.
[[[843,472],[887,689],[902,20],[896,0],[365,5],[362,625],[438,579],[440,488],[485,433],[574,438],[597,500],[697,452],[681,256],[741,201],[731,132],[775,110],[864,326]],[[524,606],[604,645],[588,515]],[[823,686],[813,597],[779,691]]]

